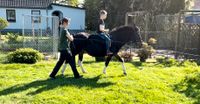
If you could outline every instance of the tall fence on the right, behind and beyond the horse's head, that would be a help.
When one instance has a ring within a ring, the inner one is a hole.
[[[143,40],[155,38],[157,50],[171,50],[175,56],[200,55],[200,12],[181,11],[176,15],[151,15],[147,12],[126,14],[126,25],[136,24]]]

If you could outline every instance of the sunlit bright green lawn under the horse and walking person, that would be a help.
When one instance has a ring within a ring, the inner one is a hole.
[[[200,72],[200,67],[166,67],[155,61],[111,62],[107,75],[102,75],[104,63],[85,56],[88,73],[76,80],[68,67],[65,76],[59,72],[49,80],[56,61],[37,64],[0,64],[0,104],[192,104],[199,97],[190,97],[179,86],[186,76]],[[78,67],[79,72],[80,68]],[[82,74],[82,73],[81,73]],[[181,84],[182,85],[182,84]]]

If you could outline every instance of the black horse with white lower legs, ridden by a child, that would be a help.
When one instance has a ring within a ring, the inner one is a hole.
[[[122,62],[123,73],[127,75],[124,66],[124,60],[118,55],[118,52],[121,49],[121,47],[128,42],[133,42],[140,46],[142,45],[142,39],[139,34],[139,29],[136,26],[121,26],[113,29],[109,34],[111,36],[111,42],[112,42],[110,51],[113,52],[113,54],[107,57],[103,73],[106,74],[106,68],[110,60],[114,56],[120,62]],[[101,38],[100,35],[87,35],[87,33],[78,33],[77,35],[74,36],[74,41],[73,43],[71,43],[72,54],[74,57],[76,55],[79,55],[78,63],[84,73],[86,72],[82,66],[84,51],[94,57],[103,57],[106,56],[105,45],[106,45],[105,41]],[[62,69],[62,74],[64,74],[65,69],[66,69],[66,64]]]

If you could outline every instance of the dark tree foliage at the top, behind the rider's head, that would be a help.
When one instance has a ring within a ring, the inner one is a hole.
[[[99,10],[108,11],[108,27],[124,25],[125,14],[134,11],[148,11],[152,15],[175,14],[186,8],[185,0],[85,0],[87,29],[95,30]]]

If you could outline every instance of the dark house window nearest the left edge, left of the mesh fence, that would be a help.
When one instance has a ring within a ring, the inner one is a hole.
[[[15,10],[6,10],[6,16],[8,22],[16,22]]]

